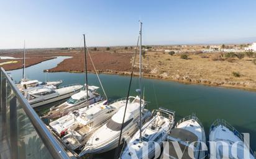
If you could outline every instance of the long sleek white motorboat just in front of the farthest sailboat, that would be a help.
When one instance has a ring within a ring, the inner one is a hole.
[[[32,108],[53,103],[71,97],[76,92],[79,92],[83,85],[66,85],[58,89],[49,87],[39,87],[33,90],[24,92],[25,98],[29,101]]]

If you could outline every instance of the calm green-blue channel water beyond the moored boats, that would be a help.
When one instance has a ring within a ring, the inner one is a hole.
[[[58,57],[42,62],[26,69],[30,79],[45,79],[64,81],[67,84],[84,84],[85,74],[57,72],[43,73],[44,69],[50,69],[67,57]],[[19,81],[22,69],[8,71],[14,80]],[[129,77],[121,75],[99,75],[107,97],[117,99],[126,97],[129,85]],[[89,85],[98,85],[95,74],[89,74]],[[206,136],[209,127],[217,118],[226,119],[240,132],[250,133],[250,145],[256,149],[256,92],[245,90],[216,88],[204,85],[186,85],[165,80],[143,79],[145,100],[149,101],[148,108],[153,110],[163,106],[176,111],[176,121],[196,113],[203,122]],[[135,77],[132,82],[130,95],[136,95],[135,89],[139,88],[139,79]],[[103,93],[102,93],[103,94]],[[101,158],[101,157],[99,157]]]

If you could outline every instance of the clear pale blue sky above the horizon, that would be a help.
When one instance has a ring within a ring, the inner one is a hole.
[[[0,0],[0,49],[256,41],[255,0]]]

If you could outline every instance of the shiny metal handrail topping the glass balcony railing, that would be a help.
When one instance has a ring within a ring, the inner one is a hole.
[[[14,82],[11,80],[9,75],[7,75],[6,71],[1,67],[1,72],[7,79],[13,93],[16,95],[17,100],[21,104],[25,114],[27,114],[28,118],[32,122],[33,126],[35,127],[35,131],[39,134],[40,139],[42,139],[43,144],[47,147],[48,151],[52,155],[53,158],[57,159],[70,159],[68,154],[65,152],[62,146],[57,142],[57,140],[53,137],[53,135],[48,131],[47,127],[43,123],[43,121],[39,118],[37,113],[35,113],[34,109],[29,105],[28,101],[25,100],[24,96],[21,94],[19,89],[16,87]]]

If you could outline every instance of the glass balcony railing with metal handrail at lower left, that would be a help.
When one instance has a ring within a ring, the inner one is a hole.
[[[0,74],[0,159],[70,158],[4,69]]]

